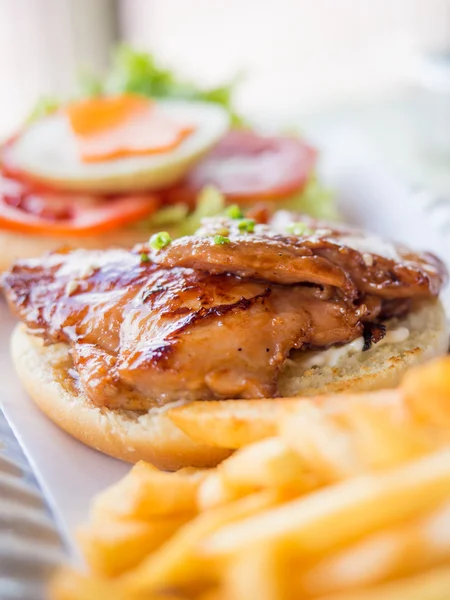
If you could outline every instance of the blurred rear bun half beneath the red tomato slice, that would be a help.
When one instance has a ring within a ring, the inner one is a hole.
[[[159,231],[158,228],[155,231]],[[38,258],[42,254],[60,248],[82,248],[97,250],[118,246],[132,248],[136,244],[146,242],[151,230],[140,230],[132,227],[117,229],[106,233],[90,236],[51,236],[34,235],[0,231],[0,271],[6,271],[16,261],[24,258]]]

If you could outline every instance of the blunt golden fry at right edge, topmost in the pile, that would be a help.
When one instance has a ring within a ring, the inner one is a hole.
[[[406,405],[422,422],[450,430],[450,358],[407,373],[401,384]],[[447,437],[448,439],[448,437]]]

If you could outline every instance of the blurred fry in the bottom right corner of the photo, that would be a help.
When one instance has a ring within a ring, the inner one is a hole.
[[[411,577],[354,592],[316,596],[317,600],[448,600],[450,568],[418,573]]]

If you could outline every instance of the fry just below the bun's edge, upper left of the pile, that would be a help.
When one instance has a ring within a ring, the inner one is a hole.
[[[165,473],[141,461],[121,481],[97,496],[91,520],[151,521],[159,516],[194,514],[197,489],[205,473],[195,469]]]

